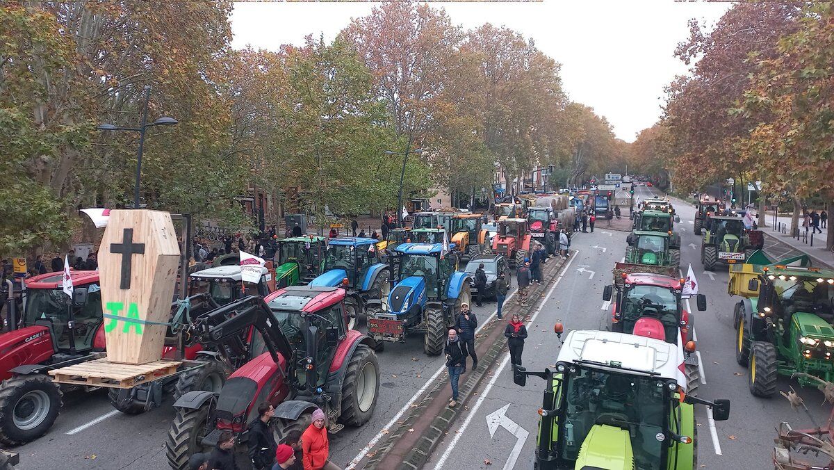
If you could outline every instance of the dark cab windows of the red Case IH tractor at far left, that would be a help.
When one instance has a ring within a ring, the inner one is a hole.
[[[75,347],[88,349],[93,346],[93,337],[102,323],[102,298],[98,284],[86,286],[87,305],[73,306],[75,316]],[[58,338],[58,348],[69,349],[69,330],[67,322],[70,304],[69,296],[60,289],[29,289],[26,291],[26,311],[24,326],[33,326],[36,321],[52,323],[51,333]]]

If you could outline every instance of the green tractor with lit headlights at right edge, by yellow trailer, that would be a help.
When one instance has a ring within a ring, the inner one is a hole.
[[[767,265],[756,252],[730,268],[728,291],[736,304],[736,361],[749,367],[756,397],[776,392],[776,377],[796,374],[802,387],[813,377],[834,381],[834,271],[811,267],[807,255]],[[798,372],[798,373],[797,373]]]

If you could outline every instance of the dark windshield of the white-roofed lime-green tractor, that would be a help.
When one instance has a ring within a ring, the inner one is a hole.
[[[620,427],[631,434],[635,467],[661,470],[667,389],[652,377],[576,367],[565,374],[565,421],[560,427],[560,457],[575,461],[582,442],[596,423]]]

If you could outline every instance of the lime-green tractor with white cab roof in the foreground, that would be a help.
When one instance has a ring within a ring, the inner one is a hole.
[[[555,331],[561,339],[561,325]],[[545,379],[533,467],[539,470],[692,470],[697,468],[694,405],[730,416],[729,400],[709,402],[684,392],[678,346],[613,331],[570,331],[555,366],[513,381]]]

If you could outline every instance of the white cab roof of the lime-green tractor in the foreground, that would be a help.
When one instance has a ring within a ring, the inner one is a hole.
[[[588,361],[626,373],[659,374],[686,390],[683,348],[646,336],[613,331],[574,330],[565,337],[558,361]]]

